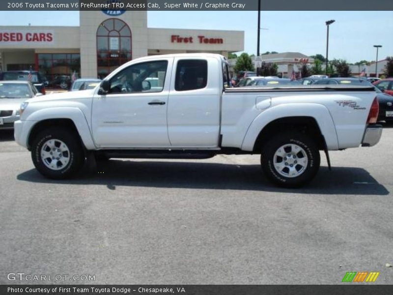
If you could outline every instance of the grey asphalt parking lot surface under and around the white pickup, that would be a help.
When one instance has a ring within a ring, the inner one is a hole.
[[[393,284],[393,125],[372,148],[331,152],[302,189],[258,156],[126,160],[49,180],[0,131],[0,283],[10,272],[94,284]],[[50,282],[47,282],[50,283]]]

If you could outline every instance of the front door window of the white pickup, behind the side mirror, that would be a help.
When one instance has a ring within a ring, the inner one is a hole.
[[[167,68],[167,60],[130,65],[111,79],[109,93],[160,92],[164,88]]]

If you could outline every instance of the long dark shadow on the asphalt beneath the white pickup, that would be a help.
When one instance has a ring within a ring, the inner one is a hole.
[[[17,179],[38,183],[105,185],[110,190],[117,186],[157,188],[250,190],[282,193],[388,195],[389,191],[362,168],[321,167],[309,185],[299,189],[285,189],[272,185],[263,175],[260,165],[195,163],[174,161],[132,161],[113,159],[101,162],[95,172],[84,169],[70,180],[52,180],[35,169]]]

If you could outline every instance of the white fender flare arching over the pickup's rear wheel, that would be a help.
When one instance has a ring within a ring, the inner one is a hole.
[[[311,117],[317,122],[328,149],[338,149],[336,127],[329,110],[315,103],[286,103],[260,113],[250,124],[244,136],[242,149],[252,151],[259,133],[270,122],[285,117]]]

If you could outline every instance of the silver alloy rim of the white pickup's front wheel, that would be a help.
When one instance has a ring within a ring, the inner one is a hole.
[[[46,141],[41,148],[42,162],[51,170],[60,170],[70,161],[70,150],[58,139]]]

